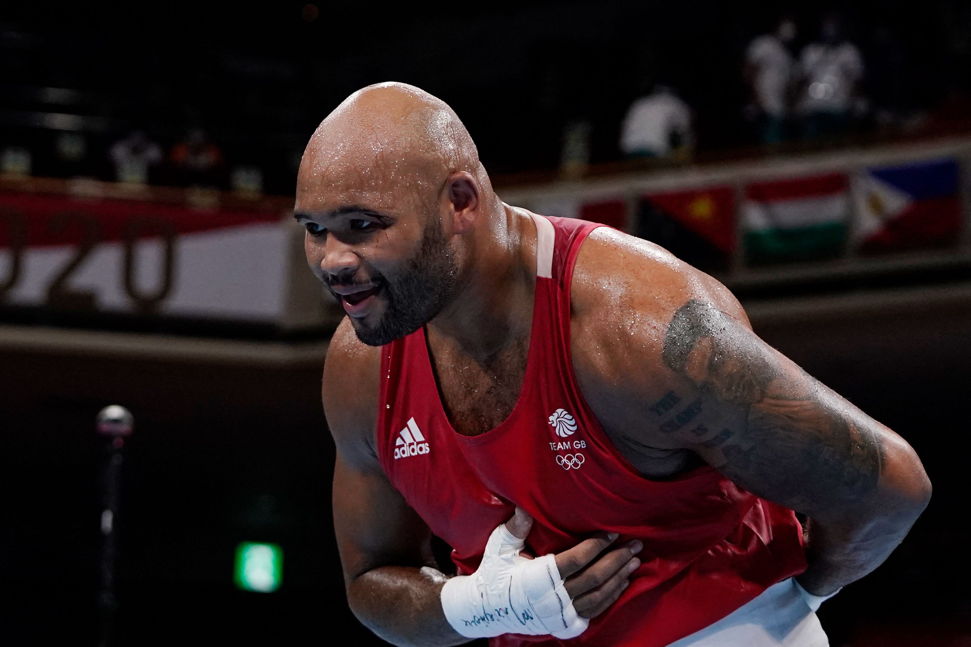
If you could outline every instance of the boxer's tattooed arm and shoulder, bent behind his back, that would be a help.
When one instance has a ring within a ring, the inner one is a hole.
[[[609,234],[590,245],[581,308],[592,303],[584,299],[596,275],[616,263],[598,259],[612,247],[630,278],[600,316],[629,323],[596,340],[605,357],[580,353],[576,362],[612,436],[633,448],[690,450],[809,516],[810,566],[800,581],[811,593],[879,566],[930,497],[910,445],[760,340],[717,281],[650,243]],[[574,329],[596,330],[589,323]]]

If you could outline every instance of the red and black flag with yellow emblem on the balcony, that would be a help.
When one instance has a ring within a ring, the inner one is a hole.
[[[699,270],[727,270],[735,249],[734,192],[714,186],[645,195],[637,235]]]

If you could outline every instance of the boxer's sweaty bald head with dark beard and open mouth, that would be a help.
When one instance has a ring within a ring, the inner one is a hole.
[[[442,100],[404,83],[354,92],[300,163],[294,215],[307,260],[357,336],[380,345],[418,330],[473,270],[479,232],[505,226],[479,152]]]

